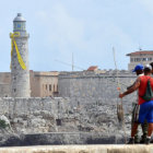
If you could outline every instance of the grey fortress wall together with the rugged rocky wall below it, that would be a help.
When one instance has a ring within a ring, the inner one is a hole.
[[[116,71],[62,72],[59,76],[61,97],[1,98],[0,114],[9,118],[15,133],[94,132],[93,136],[101,133],[97,138],[123,137],[117,121],[117,103],[120,103]],[[120,71],[119,80],[123,85],[131,85],[136,75]],[[128,136],[136,98],[133,93],[122,99]]]

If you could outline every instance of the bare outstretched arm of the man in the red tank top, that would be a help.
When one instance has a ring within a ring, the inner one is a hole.
[[[119,97],[120,98],[122,98],[123,96],[126,96],[126,95],[128,95],[128,94],[131,94],[132,92],[134,92],[136,90],[138,90],[139,89],[139,86],[140,86],[140,78],[138,78],[137,80],[136,80],[136,82],[133,83],[133,85],[129,89],[129,90],[127,90],[125,93],[122,93],[122,94],[119,94]]]

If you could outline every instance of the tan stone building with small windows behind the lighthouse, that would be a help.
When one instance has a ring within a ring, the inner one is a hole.
[[[58,95],[59,72],[30,71],[31,96],[47,97]],[[0,97],[11,97],[11,73],[0,72]]]

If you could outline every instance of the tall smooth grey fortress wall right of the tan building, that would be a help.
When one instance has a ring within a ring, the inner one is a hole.
[[[118,87],[116,75],[116,70],[60,73],[58,78],[59,96],[75,98],[106,96],[111,99],[116,96]],[[126,90],[136,80],[136,74],[126,70],[119,71],[118,75],[123,82],[121,84],[122,90]]]

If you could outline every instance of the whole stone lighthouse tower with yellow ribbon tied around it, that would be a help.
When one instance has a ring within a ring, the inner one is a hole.
[[[21,13],[13,21],[11,38],[11,96],[30,97],[28,37]]]

